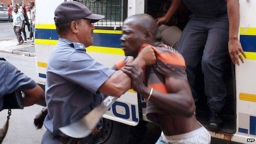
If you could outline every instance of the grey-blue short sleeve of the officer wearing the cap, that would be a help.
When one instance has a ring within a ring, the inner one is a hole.
[[[76,51],[67,59],[63,75],[71,82],[81,85],[96,94],[98,88],[110,78],[114,72],[114,70],[98,63],[88,54]]]

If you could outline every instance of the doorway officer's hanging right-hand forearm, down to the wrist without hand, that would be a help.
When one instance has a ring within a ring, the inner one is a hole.
[[[226,0],[229,16],[229,39],[238,39],[240,12],[238,0]]]

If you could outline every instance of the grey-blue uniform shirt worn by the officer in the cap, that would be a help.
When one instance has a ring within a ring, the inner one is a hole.
[[[82,43],[59,39],[46,72],[46,129],[65,136],[58,128],[77,121],[100,104],[103,95],[97,90],[114,72],[91,58]]]

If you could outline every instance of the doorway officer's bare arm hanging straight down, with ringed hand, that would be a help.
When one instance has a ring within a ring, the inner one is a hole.
[[[241,43],[238,40],[240,21],[239,2],[238,0],[226,0],[226,2],[229,16],[229,55],[233,64],[238,64],[239,66],[239,59],[244,63],[242,55],[246,58]]]

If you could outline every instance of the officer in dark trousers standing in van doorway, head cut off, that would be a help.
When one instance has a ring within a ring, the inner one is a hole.
[[[217,130],[222,125],[220,112],[225,105],[227,94],[223,80],[230,58],[233,64],[244,63],[246,58],[238,40],[238,0],[183,0],[192,12],[181,37],[178,51],[187,66],[187,78],[192,90],[195,84],[195,70],[202,58],[205,93],[211,116],[208,127]],[[156,21],[167,22],[176,11],[181,0],[173,0],[167,14]],[[201,55],[203,55],[201,57]],[[230,58],[229,58],[230,56]],[[197,94],[193,91],[195,102]]]

